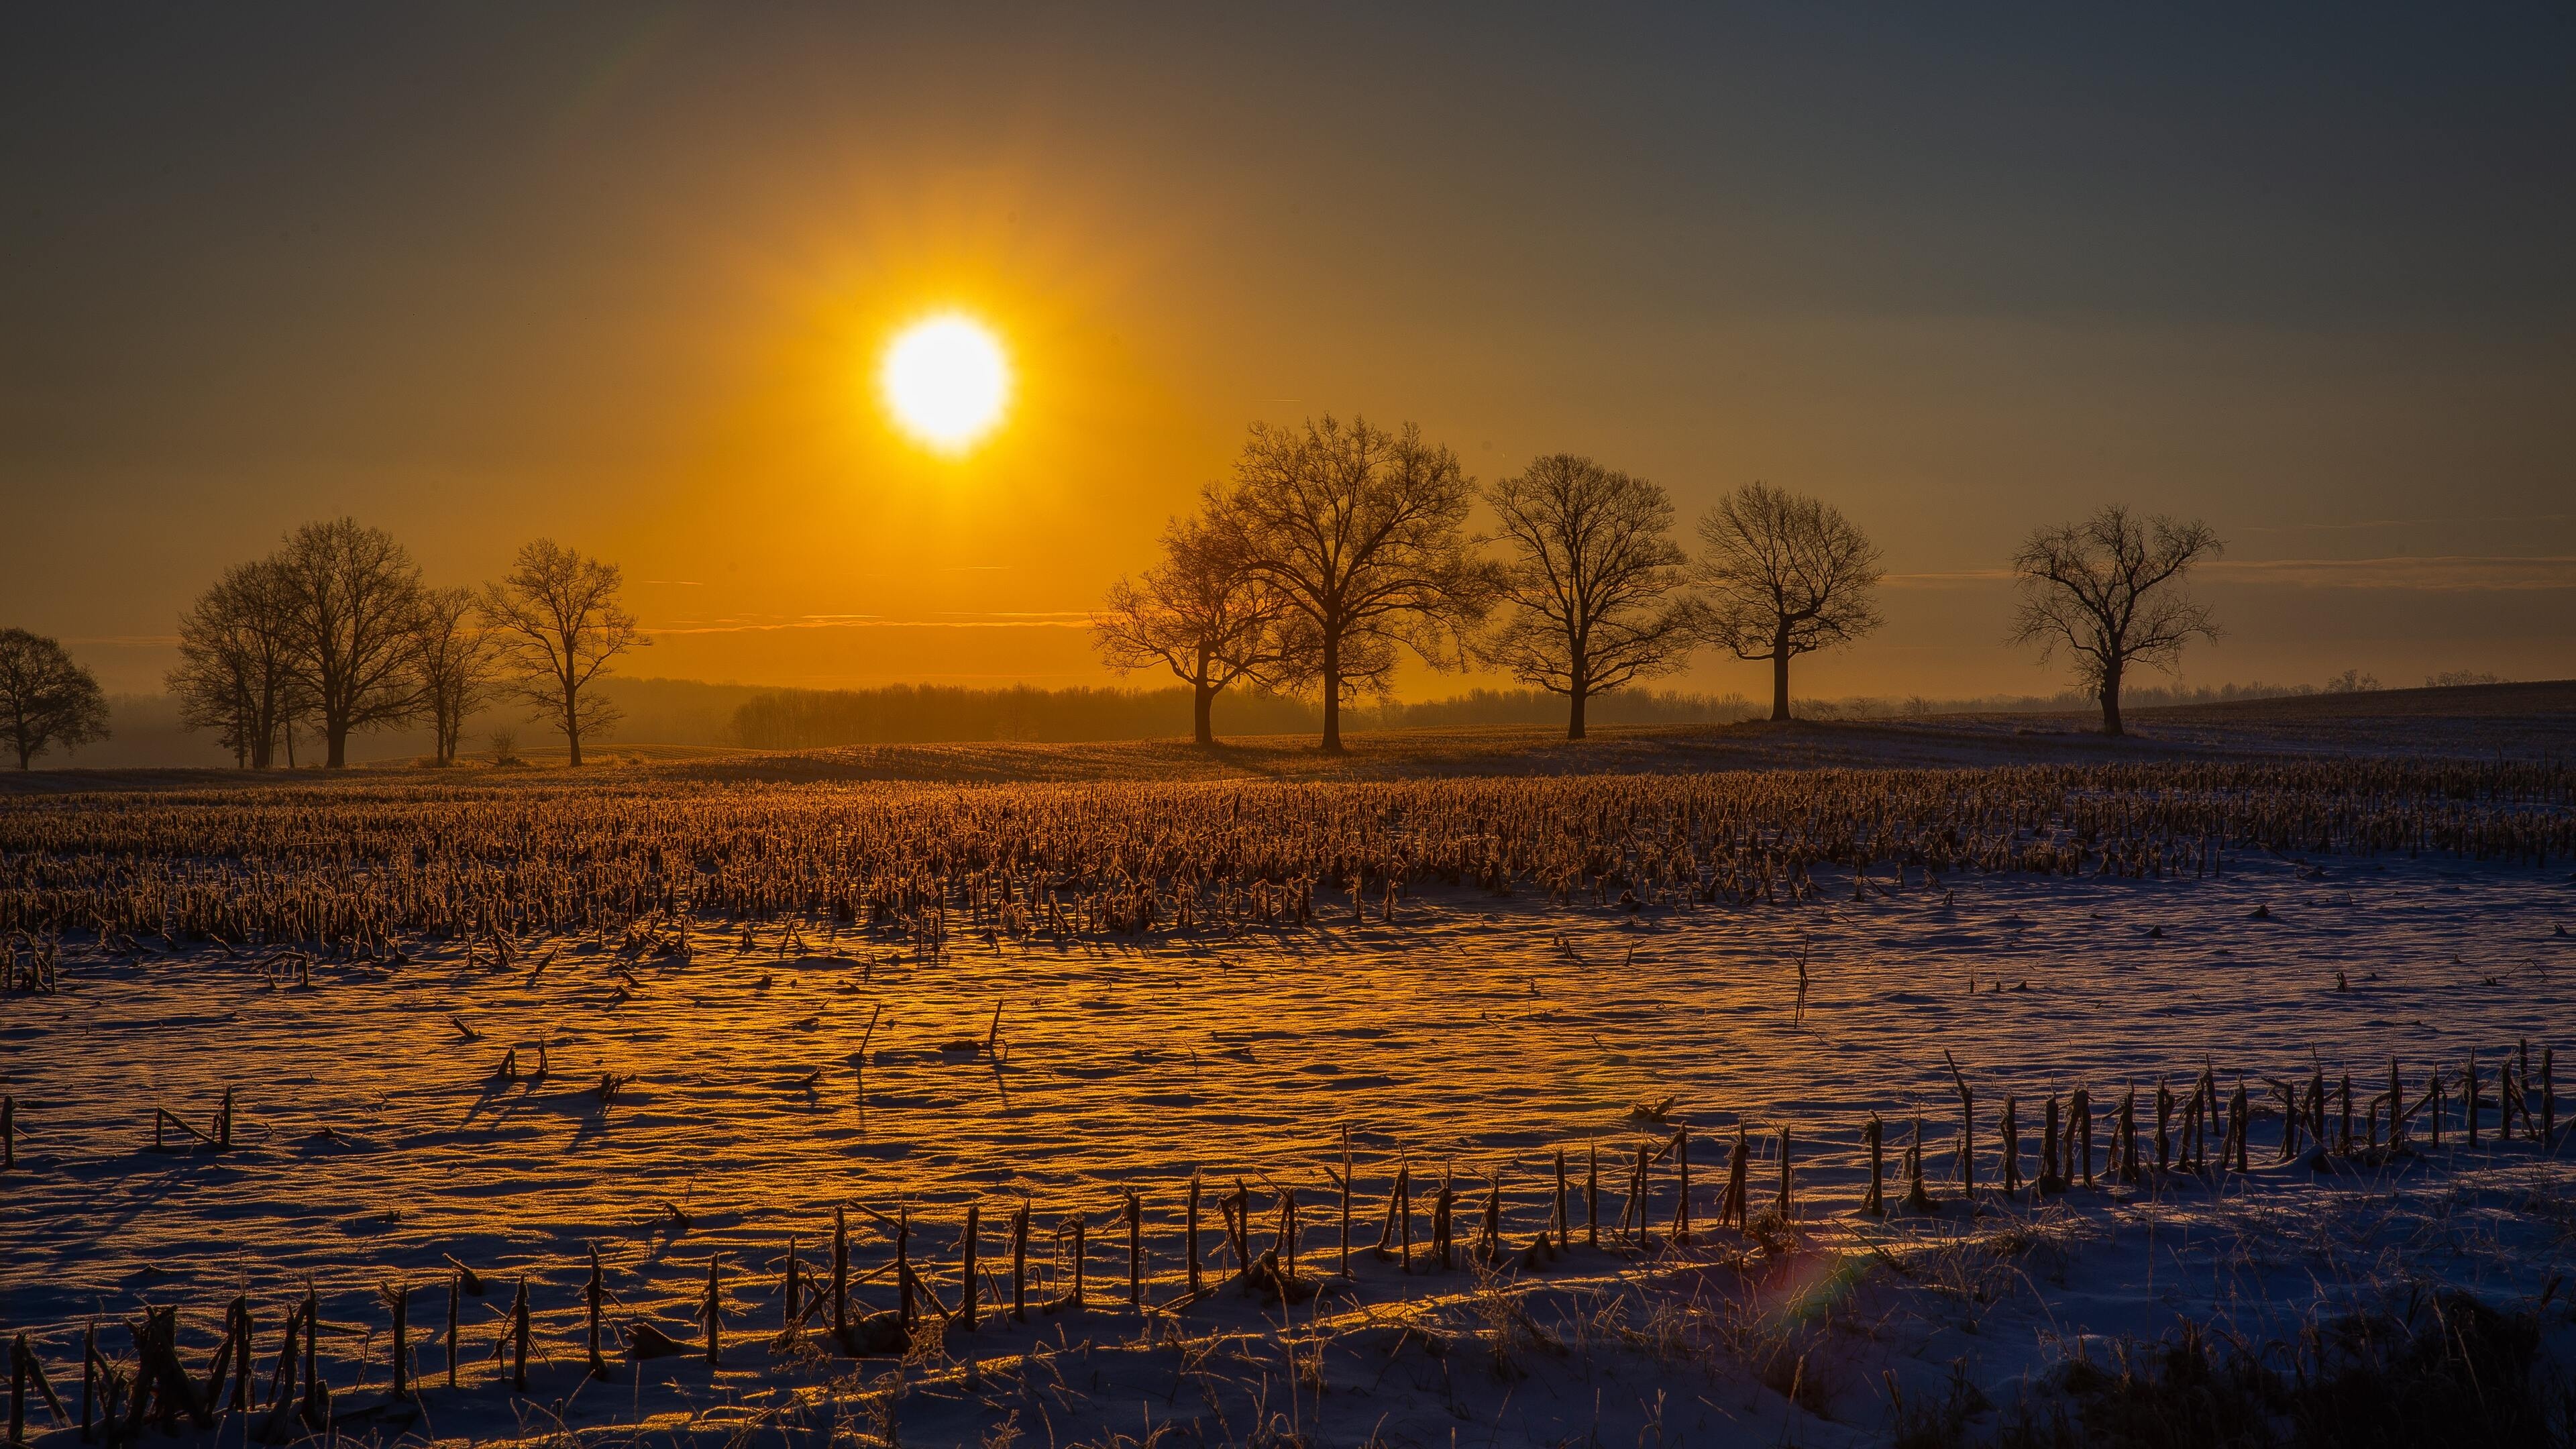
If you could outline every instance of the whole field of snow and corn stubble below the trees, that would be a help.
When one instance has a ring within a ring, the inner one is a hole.
[[[2442,719],[57,779],[5,1328],[191,1431],[240,1297],[214,1441],[2563,1441],[2576,771]]]

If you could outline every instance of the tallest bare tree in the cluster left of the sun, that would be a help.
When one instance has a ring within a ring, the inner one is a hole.
[[[289,601],[289,670],[322,724],[322,763],[343,768],[353,730],[420,714],[420,565],[392,534],[355,518],[304,523],[273,565]]]

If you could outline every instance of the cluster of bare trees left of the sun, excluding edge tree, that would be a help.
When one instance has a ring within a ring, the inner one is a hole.
[[[435,588],[384,529],[304,523],[180,614],[167,686],[180,719],[245,768],[281,753],[291,766],[299,732],[340,768],[350,735],[420,722],[453,763],[466,717],[492,701],[528,704],[580,766],[582,740],[616,722],[590,683],[652,642],[621,588],[616,565],[554,539],[523,544],[482,588]]]

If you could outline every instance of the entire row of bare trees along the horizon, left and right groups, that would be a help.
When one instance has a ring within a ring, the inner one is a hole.
[[[1479,500],[1494,536],[1468,526]],[[1154,567],[1110,585],[1095,645],[1118,673],[1170,670],[1203,745],[1216,696],[1252,686],[1316,696],[1324,750],[1340,750],[1345,706],[1383,699],[1406,652],[1564,699],[1579,740],[1597,696],[1677,673],[1700,647],[1767,663],[1770,717],[1790,719],[1790,663],[1883,621],[1880,552],[1832,503],[1749,482],[1698,518],[1698,557],[1672,531],[1662,485],[1587,456],[1476,487],[1409,423],[1257,423],[1234,477],[1170,521]],[[2208,523],[2125,505],[2035,529],[2012,554],[2012,642],[2063,652],[2120,735],[2128,678],[2218,637],[2187,578],[2221,547]],[[616,719],[590,683],[652,642],[621,585],[616,565],[536,539],[500,580],[433,588],[384,529],[304,523],[180,616],[167,686],[185,727],[214,730],[247,768],[294,763],[299,732],[340,768],[353,732],[412,722],[453,763],[466,717],[495,699],[528,704],[580,766],[582,740]],[[775,709],[781,730],[801,727],[796,709]],[[0,727],[28,768],[52,745],[103,740],[106,699],[57,642],[0,629]]]

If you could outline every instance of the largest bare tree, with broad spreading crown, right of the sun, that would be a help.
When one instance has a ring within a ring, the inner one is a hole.
[[[1365,418],[1252,425],[1234,490],[1211,518],[1249,580],[1288,608],[1288,683],[1321,683],[1324,750],[1342,750],[1342,691],[1383,691],[1406,645],[1432,668],[1466,665],[1466,632],[1499,572],[1466,531],[1473,485],[1458,454]]]

